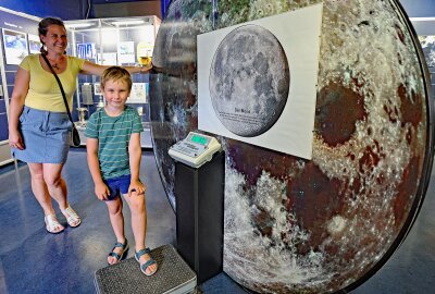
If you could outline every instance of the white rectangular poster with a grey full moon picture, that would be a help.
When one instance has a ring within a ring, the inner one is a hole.
[[[198,128],[311,159],[322,9],[198,35]]]

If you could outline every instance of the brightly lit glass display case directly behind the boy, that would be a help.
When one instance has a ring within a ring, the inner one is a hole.
[[[70,46],[67,53],[103,65],[134,66],[151,62],[154,39],[160,26],[157,16],[92,19],[66,21]],[[141,146],[151,148],[149,127],[149,74],[133,74],[133,88],[127,105],[137,109],[145,132]],[[73,103],[83,144],[84,131],[90,114],[104,106],[100,90],[100,76],[79,75]]]

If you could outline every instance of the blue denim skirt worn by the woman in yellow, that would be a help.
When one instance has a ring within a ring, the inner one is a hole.
[[[18,128],[24,150],[11,149],[14,158],[30,163],[65,163],[73,124],[67,113],[24,107]]]

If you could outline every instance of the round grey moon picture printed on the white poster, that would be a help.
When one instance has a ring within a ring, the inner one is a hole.
[[[253,137],[268,131],[286,106],[289,69],[276,37],[244,25],[220,44],[210,69],[214,112],[232,133]]]

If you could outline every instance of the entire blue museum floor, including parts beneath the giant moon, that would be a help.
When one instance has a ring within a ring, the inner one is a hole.
[[[175,244],[175,216],[163,191],[151,151],[141,175],[147,184],[147,246]],[[45,230],[42,212],[30,191],[25,164],[0,168],[0,293],[95,293],[94,273],[105,267],[114,237],[107,209],[94,196],[84,149],[72,150],[64,170],[70,203],[83,223],[58,235]],[[58,210],[59,211],[59,210]],[[435,172],[414,226],[387,264],[351,293],[433,293],[435,289]],[[66,223],[61,213],[59,220]],[[129,213],[125,213],[127,224]],[[126,236],[133,240],[129,226]],[[133,250],[128,257],[133,256]],[[145,278],[146,279],[146,278]],[[247,293],[226,274],[207,281],[206,294]]]

